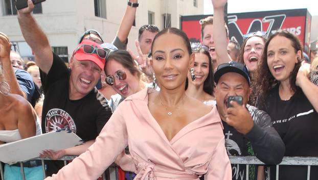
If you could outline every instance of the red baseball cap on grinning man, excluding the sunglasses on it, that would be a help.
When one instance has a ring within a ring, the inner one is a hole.
[[[94,49],[92,54],[85,53],[82,45],[91,45],[94,48],[104,50],[99,44],[94,41],[90,41],[84,39],[74,50],[73,57],[76,55],[76,60],[78,61],[93,61],[97,64],[101,69],[104,69],[105,66],[105,58],[101,58],[97,55],[97,49]]]

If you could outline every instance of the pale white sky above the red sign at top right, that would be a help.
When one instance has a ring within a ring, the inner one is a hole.
[[[204,14],[213,14],[211,0],[204,1]],[[272,11],[307,8],[311,16],[318,16],[317,0],[228,0],[228,13]]]

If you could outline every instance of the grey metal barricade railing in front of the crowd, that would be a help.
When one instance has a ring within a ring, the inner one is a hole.
[[[77,156],[64,156],[61,159],[58,159],[58,161],[63,161],[64,165],[67,164],[67,161],[71,161]],[[246,165],[246,180],[248,180],[248,167],[249,165],[265,165],[262,163],[259,159],[257,159],[255,156],[230,156],[230,162],[231,164],[242,164]],[[34,160],[41,160],[42,161],[42,170],[43,170],[43,176],[46,177],[46,170],[44,166],[44,160],[50,160],[48,158],[38,158]],[[276,180],[279,180],[279,166],[280,165],[292,165],[292,166],[307,166],[307,180],[310,179],[310,167],[311,166],[318,166],[318,157],[284,157],[283,161],[276,165]],[[23,163],[20,162],[20,167],[21,167],[21,174],[22,174],[22,179],[26,180],[25,174],[24,174],[24,168],[23,168]],[[112,164],[110,168],[115,168],[115,179],[118,180],[118,167],[116,164]],[[4,171],[3,171],[3,164],[0,163],[0,174],[1,178],[4,179]],[[103,180],[108,180],[106,179],[105,172],[102,174]],[[110,178],[111,179],[111,178]],[[28,179],[27,179],[28,180]],[[113,179],[111,179],[113,180]]]

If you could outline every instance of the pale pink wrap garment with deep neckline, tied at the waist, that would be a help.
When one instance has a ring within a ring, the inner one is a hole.
[[[169,142],[148,109],[148,91],[127,97],[86,152],[47,179],[97,179],[128,145],[135,179],[231,180],[216,107],[189,123]]]

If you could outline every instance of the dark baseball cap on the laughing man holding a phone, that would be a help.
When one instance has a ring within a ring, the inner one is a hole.
[[[243,75],[248,85],[251,86],[251,79],[249,78],[249,73],[246,66],[243,63],[239,63],[235,61],[220,64],[214,73],[214,82],[217,84],[221,76],[228,72],[236,72]]]

